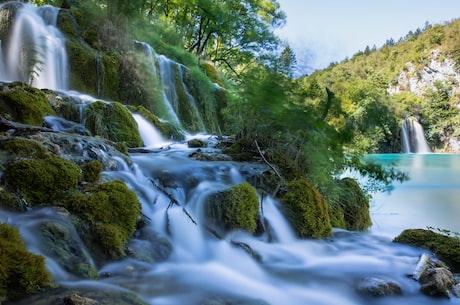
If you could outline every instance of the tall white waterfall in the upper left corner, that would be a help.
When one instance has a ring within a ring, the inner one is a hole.
[[[23,4],[1,45],[4,81],[22,81],[37,88],[67,89],[68,64],[64,36],[56,27],[59,9]]]

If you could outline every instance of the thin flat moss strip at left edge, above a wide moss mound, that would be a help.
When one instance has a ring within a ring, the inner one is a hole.
[[[0,150],[15,158],[44,159],[50,156],[48,150],[39,142],[26,138],[0,139]]]

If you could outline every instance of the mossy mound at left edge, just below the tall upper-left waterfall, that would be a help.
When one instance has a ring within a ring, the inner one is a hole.
[[[0,114],[11,120],[43,125],[43,117],[54,114],[46,95],[25,84],[14,83],[8,91],[0,92]]]

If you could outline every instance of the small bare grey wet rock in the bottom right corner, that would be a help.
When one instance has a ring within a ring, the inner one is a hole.
[[[420,290],[427,295],[449,296],[449,290],[455,284],[455,279],[446,268],[430,268],[422,273],[419,279]]]

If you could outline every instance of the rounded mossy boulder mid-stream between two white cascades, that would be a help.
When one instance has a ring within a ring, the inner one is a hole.
[[[256,189],[247,182],[211,194],[205,216],[218,232],[242,229],[254,233],[259,217]]]

